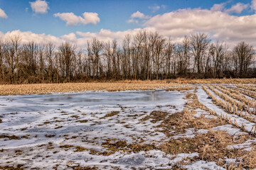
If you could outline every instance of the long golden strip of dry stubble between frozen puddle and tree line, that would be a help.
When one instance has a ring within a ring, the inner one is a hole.
[[[66,84],[0,85],[0,95],[50,94],[78,91],[154,90],[187,86],[187,84],[256,84],[256,79],[166,79],[154,81],[107,81]],[[187,87],[188,88],[188,87]],[[172,89],[170,89],[172,90]],[[185,90],[185,89],[184,89]]]

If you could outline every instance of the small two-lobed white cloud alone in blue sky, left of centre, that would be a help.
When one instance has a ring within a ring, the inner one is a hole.
[[[78,24],[86,25],[88,23],[97,24],[100,18],[97,13],[82,13],[82,16],[76,16],[74,13],[55,13],[53,16],[59,17],[66,22],[67,26],[77,26]]]

